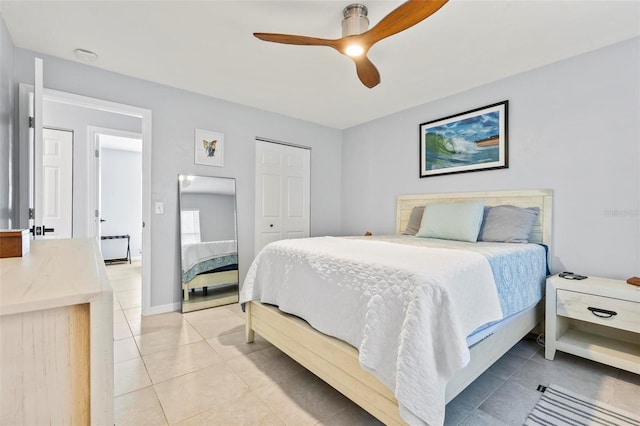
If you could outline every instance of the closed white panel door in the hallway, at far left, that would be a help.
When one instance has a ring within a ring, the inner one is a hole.
[[[43,238],[71,238],[73,223],[73,132],[42,131]]]

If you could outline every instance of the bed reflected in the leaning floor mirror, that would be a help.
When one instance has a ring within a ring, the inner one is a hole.
[[[238,283],[238,253],[235,240],[191,243],[182,246],[182,291]]]

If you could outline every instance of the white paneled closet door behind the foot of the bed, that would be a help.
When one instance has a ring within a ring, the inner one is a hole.
[[[309,236],[311,150],[256,140],[255,254]]]

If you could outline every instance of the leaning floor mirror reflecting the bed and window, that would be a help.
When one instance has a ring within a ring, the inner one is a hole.
[[[179,175],[182,312],[238,301],[236,181]]]

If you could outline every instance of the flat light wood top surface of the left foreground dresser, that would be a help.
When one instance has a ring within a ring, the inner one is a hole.
[[[36,240],[30,250],[0,259],[0,315],[89,303],[111,291],[96,240]]]

